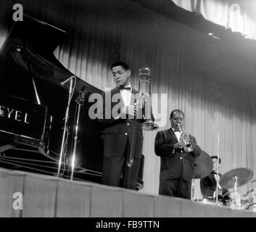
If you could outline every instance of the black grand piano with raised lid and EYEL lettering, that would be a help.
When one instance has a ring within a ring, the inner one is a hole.
[[[45,175],[56,175],[69,84],[61,83],[74,74],[54,57],[54,49],[65,31],[29,15],[15,22],[0,50],[0,166]],[[77,98],[80,107],[74,180],[101,182],[103,149],[100,125],[88,117],[90,94],[101,93],[75,76],[70,101],[61,176],[70,178]],[[143,188],[144,156],[139,170],[138,189]]]

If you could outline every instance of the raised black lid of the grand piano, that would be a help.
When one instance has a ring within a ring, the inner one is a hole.
[[[12,64],[15,62],[22,70],[30,72],[30,75],[44,78],[60,86],[62,81],[73,75],[53,54],[64,36],[64,30],[24,14],[23,21],[15,22],[1,47],[0,62],[9,63],[9,65],[2,65],[1,70],[7,66],[15,67]],[[11,71],[10,69],[4,70],[8,74]],[[90,93],[102,92],[77,78],[75,89],[79,91],[83,86],[86,86],[86,91]],[[66,85],[63,88],[69,87]]]

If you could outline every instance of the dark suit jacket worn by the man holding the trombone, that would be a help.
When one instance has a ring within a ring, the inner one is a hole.
[[[117,94],[117,95],[115,95]],[[133,96],[139,94],[139,91],[136,91],[132,88],[132,98],[131,103],[136,102],[136,99],[133,99]],[[116,102],[108,102],[110,104],[108,107],[105,105],[105,97],[110,96],[110,100],[115,95]],[[138,123],[136,126],[136,137],[134,140],[134,152],[133,157],[139,159],[142,153],[143,145],[143,133],[141,129],[141,123],[144,122],[143,119],[115,119],[112,112],[120,112],[120,108],[124,107],[122,96],[118,87],[112,89],[109,92],[102,93],[103,97],[103,118],[98,118],[99,123],[102,124],[102,139],[104,140],[104,157],[118,157],[123,156],[125,152],[125,146],[127,142],[131,144],[133,137],[133,130],[135,129],[135,123]],[[117,110],[116,110],[117,109]],[[115,115],[114,115],[115,116]],[[127,115],[128,117],[128,115]]]

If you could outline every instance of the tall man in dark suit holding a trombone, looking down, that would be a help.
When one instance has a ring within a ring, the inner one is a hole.
[[[138,118],[138,112],[144,106],[137,102],[139,91],[131,86],[128,65],[115,62],[111,70],[117,87],[102,94],[104,112],[98,119],[104,140],[102,183],[135,190],[143,145],[140,124],[145,121],[142,114]]]

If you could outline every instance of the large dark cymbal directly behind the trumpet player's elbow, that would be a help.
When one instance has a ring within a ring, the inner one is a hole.
[[[205,176],[209,175],[212,171],[213,163],[209,154],[202,151],[199,157],[195,159],[194,162],[194,179],[202,179]]]

